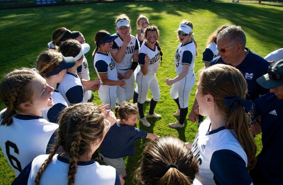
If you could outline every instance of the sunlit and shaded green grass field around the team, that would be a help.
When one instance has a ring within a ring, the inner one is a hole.
[[[156,73],[161,100],[157,103],[155,111],[161,114],[162,118],[149,118],[148,121],[152,125],[150,128],[139,123],[136,126],[149,133],[175,136],[185,142],[193,141],[198,126],[187,120],[185,128],[168,127],[168,123],[178,119],[172,116],[177,105],[170,97],[170,87],[164,80],[167,77],[175,77],[174,56],[179,44],[175,30],[183,19],[192,21],[195,40],[199,46],[199,56],[195,59],[195,72],[203,67],[202,52],[208,36],[223,24],[241,25],[247,36],[247,47],[263,57],[283,46],[281,28],[283,8],[277,6],[206,2],[131,2],[1,10],[1,76],[14,67],[33,67],[37,55],[47,48],[52,32],[58,27],[66,27],[72,31],[82,32],[86,42],[90,44],[91,51],[85,56],[88,59],[91,79],[94,79],[97,77],[91,57],[95,49],[94,36],[100,29],[105,29],[111,34],[115,33],[114,19],[122,13],[126,13],[131,19],[133,35],[136,35],[135,22],[139,14],[146,15],[150,24],[157,25],[161,35],[160,46],[164,54],[162,67]],[[196,87],[191,92],[189,111],[195,98],[195,90]],[[101,103],[97,92],[95,92],[94,102]],[[3,102],[0,108],[5,108]],[[145,113],[148,110],[149,103],[145,103]],[[132,173],[147,142],[146,139],[137,141],[136,156],[125,158],[128,174],[126,184],[136,184],[132,181]],[[256,136],[256,142],[259,152],[261,150],[260,136]],[[0,184],[11,184],[14,177],[14,172],[0,151]]]

